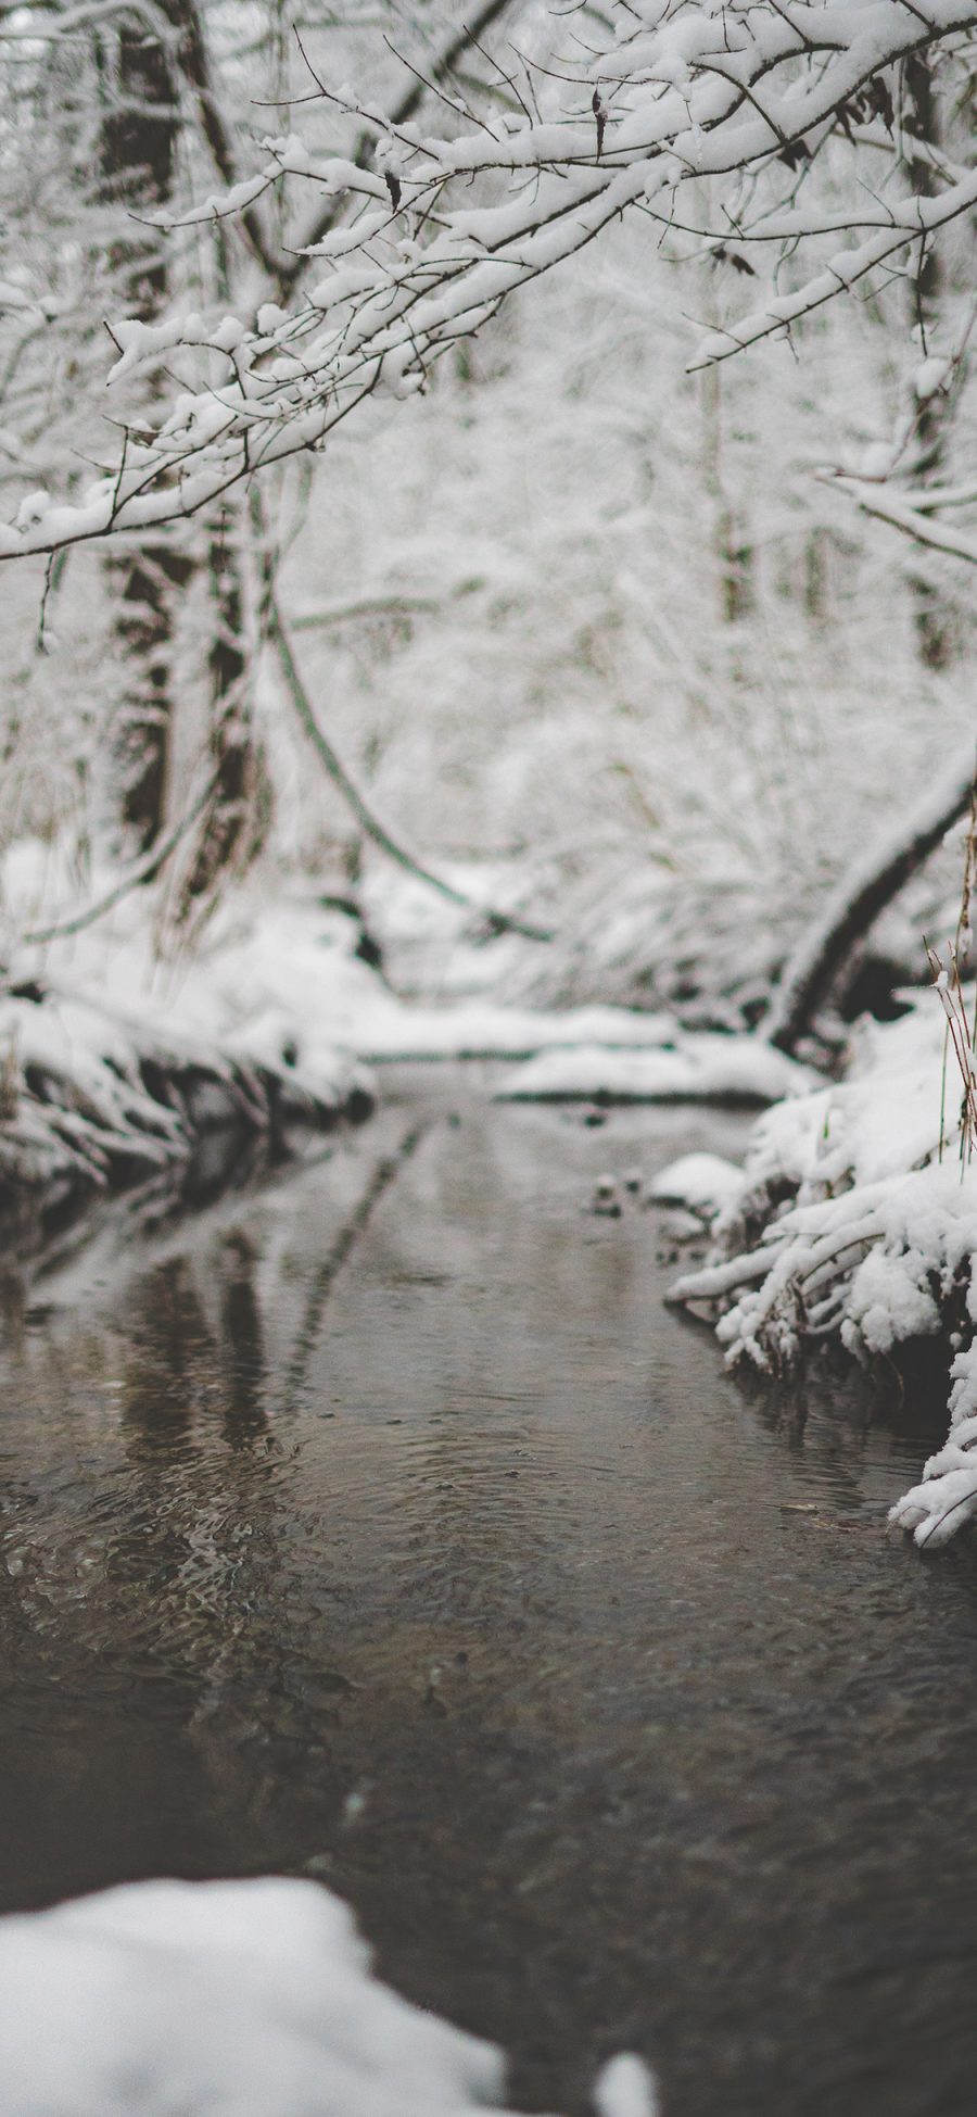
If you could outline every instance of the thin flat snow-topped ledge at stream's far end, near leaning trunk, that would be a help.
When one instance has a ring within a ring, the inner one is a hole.
[[[774,1103],[804,1094],[814,1073],[759,1037],[672,1031],[658,1050],[552,1050],[503,1082],[510,1103]]]

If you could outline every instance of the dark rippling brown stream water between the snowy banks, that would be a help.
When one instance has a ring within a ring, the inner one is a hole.
[[[740,1120],[434,1090],[8,1272],[2,1907],[309,1871],[527,2106],[630,2045],[670,2117],[969,2117],[975,1548],[884,1533],[937,1393],[744,1393],[584,1211]]]

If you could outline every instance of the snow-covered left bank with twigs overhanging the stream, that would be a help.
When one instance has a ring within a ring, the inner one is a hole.
[[[17,944],[13,936],[42,921],[51,893],[63,898],[57,881],[51,889],[47,849],[19,845],[6,855],[2,1232],[97,1192],[176,1175],[216,1135],[252,1135],[281,1152],[296,1128],[370,1111],[370,1075],[343,1037],[319,1033],[302,1063],[281,1023],[264,1018],[260,993],[256,1006],[247,959],[220,946],[218,921],[216,946],[205,934],[195,957],[167,961],[156,946],[159,902],[133,891],[80,931]],[[300,1014],[309,965],[288,959],[279,931],[256,934],[256,944],[279,951]],[[321,1029],[330,980],[319,984]]]

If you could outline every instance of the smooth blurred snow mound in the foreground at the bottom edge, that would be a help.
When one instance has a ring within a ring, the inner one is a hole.
[[[491,2043],[370,1971],[315,1882],[137,1882],[0,1920],[4,2117],[469,2117],[503,2098]],[[601,2117],[653,2117],[639,2058]]]

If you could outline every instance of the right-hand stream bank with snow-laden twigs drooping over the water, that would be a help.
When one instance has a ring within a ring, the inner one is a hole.
[[[941,1139],[933,995],[861,1033],[850,1078],[759,1118],[706,1264],[672,1298],[717,1317],[727,1361],[785,1372],[816,1340],[859,1359],[945,1336],[950,1437],[892,1520],[918,1545],[977,1514],[977,1164]],[[958,1097],[947,1080],[947,1109]],[[681,1171],[660,1194],[681,1196]]]

